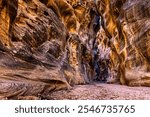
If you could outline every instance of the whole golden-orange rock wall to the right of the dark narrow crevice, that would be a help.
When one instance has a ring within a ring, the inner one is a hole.
[[[103,20],[98,33],[103,45],[100,47],[111,50],[108,82],[119,80],[131,86],[150,85],[149,6],[148,0],[97,1]],[[104,43],[108,41],[110,45]]]

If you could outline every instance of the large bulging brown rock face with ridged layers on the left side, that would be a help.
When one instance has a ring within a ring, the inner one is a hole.
[[[74,75],[65,54],[65,26],[37,0],[14,1],[1,6],[1,24],[6,25],[1,26],[0,93],[8,98],[38,96],[70,88]],[[8,5],[16,10],[13,23]]]

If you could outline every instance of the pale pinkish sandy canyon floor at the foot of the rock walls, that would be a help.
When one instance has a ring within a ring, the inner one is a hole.
[[[52,92],[48,99],[53,100],[149,100],[149,87],[129,87],[119,84],[93,83],[76,85],[71,90]]]

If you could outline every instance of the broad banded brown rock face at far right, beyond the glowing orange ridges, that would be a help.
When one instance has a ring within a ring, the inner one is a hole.
[[[123,32],[126,38],[125,79],[129,85],[150,86],[150,2],[127,1]]]

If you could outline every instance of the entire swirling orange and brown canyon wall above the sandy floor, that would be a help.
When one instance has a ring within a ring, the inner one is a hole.
[[[0,0],[1,99],[94,80],[150,86],[149,0]]]

